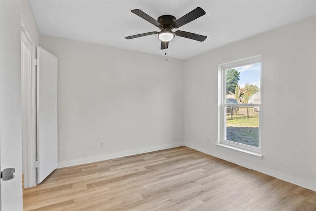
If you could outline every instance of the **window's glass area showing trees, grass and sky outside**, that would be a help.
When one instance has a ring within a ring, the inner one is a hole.
[[[259,147],[260,71],[261,63],[225,70],[224,103],[232,104],[224,108],[228,141]]]

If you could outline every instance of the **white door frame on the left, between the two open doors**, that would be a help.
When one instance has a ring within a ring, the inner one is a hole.
[[[27,30],[26,21],[21,17],[21,45],[22,42],[31,49],[27,55],[27,68],[23,68],[23,55],[21,58],[21,85],[22,85],[22,170],[24,174],[24,187],[37,185],[37,116],[36,116],[36,46],[32,36]],[[21,46],[21,51],[22,51]],[[24,99],[24,100],[23,100]]]

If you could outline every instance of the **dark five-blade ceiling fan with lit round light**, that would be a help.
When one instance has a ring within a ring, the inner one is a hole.
[[[145,12],[143,12],[140,9],[133,9],[131,10],[132,13],[138,15],[139,17],[143,18],[144,20],[150,22],[151,24],[157,26],[161,31],[160,32],[146,32],[138,35],[132,35],[125,37],[126,39],[133,39],[138,37],[143,37],[147,35],[154,35],[158,34],[159,39],[161,40],[161,50],[167,49],[169,46],[169,41],[171,41],[175,36],[180,36],[184,38],[189,38],[197,41],[204,41],[207,37],[204,35],[198,35],[191,32],[185,32],[185,31],[175,31],[173,32],[172,29],[179,28],[180,26],[183,26],[203,15],[206,14],[206,12],[200,8],[197,7],[196,9],[192,10],[188,14],[182,16],[178,20],[172,16],[172,15],[162,15],[158,17],[157,21],[152,18],[151,16],[147,15]]]

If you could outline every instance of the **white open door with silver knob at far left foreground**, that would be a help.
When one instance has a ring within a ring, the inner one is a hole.
[[[1,170],[15,168],[15,178],[1,181],[2,211],[22,208],[21,5],[0,0]]]

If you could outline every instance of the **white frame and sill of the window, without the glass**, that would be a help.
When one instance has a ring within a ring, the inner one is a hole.
[[[261,127],[260,127],[261,125],[260,116],[262,112],[261,110],[262,99],[260,100],[260,104],[243,104],[243,106],[259,107],[259,111],[260,111],[259,112],[259,146],[254,147],[254,146],[226,140],[226,106],[231,105],[231,104],[226,103],[226,70],[231,69],[231,68],[245,66],[245,65],[255,64],[255,63],[261,63],[261,70],[262,70],[261,55],[220,64],[218,66],[218,71],[219,71],[219,74],[218,74],[219,76],[218,77],[219,79],[218,114],[219,116],[218,116],[218,143],[217,145],[219,147],[224,147],[229,150],[234,150],[242,154],[246,154],[252,157],[262,159],[263,156],[261,155]],[[261,70],[260,70],[260,75],[262,74]],[[261,81],[261,77],[260,77],[260,81]],[[260,91],[261,90],[262,90],[262,87],[260,87]]]

